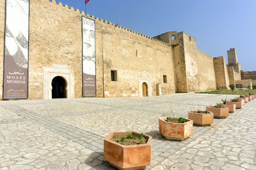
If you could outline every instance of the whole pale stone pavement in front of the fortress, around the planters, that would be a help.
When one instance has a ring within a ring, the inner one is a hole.
[[[234,96],[228,96],[232,98]],[[193,136],[170,141],[158,118],[188,117],[220,102],[218,94],[115,99],[0,102],[0,169],[114,169],[103,159],[103,140],[113,131],[153,137],[147,169],[256,169],[256,100]]]

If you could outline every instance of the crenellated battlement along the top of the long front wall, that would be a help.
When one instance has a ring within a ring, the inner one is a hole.
[[[49,0],[47,0],[47,1],[49,1]],[[49,1],[49,3],[54,3],[54,4],[56,4],[56,1],[55,1],[55,0],[52,0],[52,1]],[[152,40],[152,41],[156,41],[157,43],[161,43],[161,44],[163,44],[163,45],[168,45],[168,46],[169,46],[168,43],[165,43],[164,41],[160,41],[159,39],[151,38],[150,36],[147,36],[147,35],[145,35],[145,34],[141,34],[140,32],[132,31],[131,29],[127,29],[127,28],[125,28],[125,27],[121,27],[120,25],[117,26],[116,24],[113,24],[112,22],[108,22],[108,20],[99,19],[98,17],[95,17],[94,15],[91,15],[91,16],[90,16],[88,13],[85,15],[85,14],[84,14],[84,11],[80,11],[79,9],[74,10],[73,7],[68,8],[68,5],[67,5],[67,4],[65,4],[65,5],[63,6],[62,3],[58,3],[57,5],[58,5],[58,6],[61,6],[61,7],[63,7],[63,8],[66,8],[66,9],[68,9],[68,10],[75,11],[76,13],[80,13],[82,16],[85,16],[85,17],[88,17],[88,18],[92,18],[93,20],[97,20],[97,21],[103,22],[104,24],[108,24],[108,25],[111,25],[111,26],[113,26],[113,27],[116,27],[116,28],[119,28],[119,29],[123,29],[124,31],[132,32],[133,34],[136,34],[136,35],[138,35],[138,36],[142,36],[143,38],[147,38],[147,39],[150,39],[150,40]]]

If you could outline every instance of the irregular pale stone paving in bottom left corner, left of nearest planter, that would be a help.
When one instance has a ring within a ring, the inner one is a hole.
[[[92,160],[90,149],[31,122],[0,124],[0,129],[1,157],[6,158],[0,159],[1,169],[85,169],[84,162]]]

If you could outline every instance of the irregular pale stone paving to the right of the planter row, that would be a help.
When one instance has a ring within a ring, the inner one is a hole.
[[[256,169],[256,101],[212,126],[157,169]]]

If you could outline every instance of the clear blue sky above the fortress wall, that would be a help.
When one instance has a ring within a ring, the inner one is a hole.
[[[84,11],[84,0],[56,0]],[[87,13],[154,37],[184,31],[212,57],[237,50],[243,71],[256,71],[256,0],[90,0]]]

